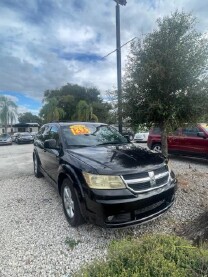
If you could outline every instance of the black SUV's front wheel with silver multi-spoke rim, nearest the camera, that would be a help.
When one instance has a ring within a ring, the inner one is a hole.
[[[77,199],[73,183],[68,179],[64,179],[61,186],[61,198],[63,203],[64,214],[67,221],[72,227],[81,225],[84,222],[79,208],[79,200]]]

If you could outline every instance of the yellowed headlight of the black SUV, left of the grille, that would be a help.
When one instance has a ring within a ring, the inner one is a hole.
[[[119,176],[95,175],[83,172],[83,176],[92,189],[124,189],[126,186]]]

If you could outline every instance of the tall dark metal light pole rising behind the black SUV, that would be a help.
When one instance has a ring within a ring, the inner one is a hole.
[[[118,87],[118,130],[122,133],[122,86],[121,86],[121,40],[120,40],[120,7],[125,6],[126,0],[116,2],[116,52],[117,52],[117,87]]]

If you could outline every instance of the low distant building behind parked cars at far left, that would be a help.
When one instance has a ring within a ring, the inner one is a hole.
[[[7,133],[13,134],[18,132],[38,132],[40,125],[38,123],[17,123],[7,127]],[[0,127],[0,133],[5,133],[5,127]]]

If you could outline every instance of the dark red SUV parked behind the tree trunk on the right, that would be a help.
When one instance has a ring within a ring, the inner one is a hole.
[[[160,129],[152,128],[149,133],[147,146],[151,150],[161,151]],[[168,152],[208,158],[208,124],[199,123],[178,128],[168,136]]]

